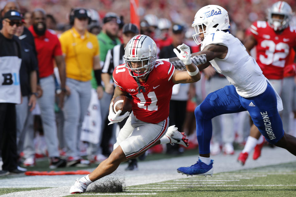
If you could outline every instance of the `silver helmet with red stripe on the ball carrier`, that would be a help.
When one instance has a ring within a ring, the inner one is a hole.
[[[154,68],[157,47],[153,39],[149,36],[134,36],[127,43],[124,50],[123,58],[125,60],[125,67],[129,70],[131,76],[135,78],[146,77]],[[141,62],[142,66],[133,68],[132,62]]]

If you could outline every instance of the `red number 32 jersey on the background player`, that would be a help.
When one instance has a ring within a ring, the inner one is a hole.
[[[257,41],[256,61],[268,79],[282,79],[290,48],[296,46],[296,28],[287,27],[280,34],[266,21],[254,22],[250,31]]]

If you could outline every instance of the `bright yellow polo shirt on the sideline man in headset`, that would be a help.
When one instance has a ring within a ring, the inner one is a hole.
[[[65,55],[67,78],[89,81],[92,78],[93,58],[100,54],[97,37],[88,31],[80,36],[72,27],[59,39]]]

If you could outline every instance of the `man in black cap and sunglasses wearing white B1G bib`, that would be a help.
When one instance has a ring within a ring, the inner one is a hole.
[[[16,147],[15,104],[21,103],[19,69],[21,66],[21,46],[14,36],[22,25],[21,14],[9,10],[4,14],[0,30],[0,147],[3,159],[0,175],[20,174]]]

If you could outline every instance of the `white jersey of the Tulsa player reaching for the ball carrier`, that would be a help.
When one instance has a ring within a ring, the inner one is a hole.
[[[216,31],[204,38],[201,50],[209,44],[219,44],[228,48],[224,59],[214,58],[210,63],[235,86],[240,96],[249,98],[266,90],[267,82],[262,70],[239,39],[229,32]]]

